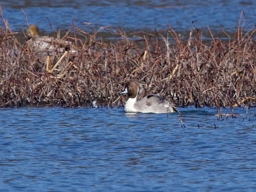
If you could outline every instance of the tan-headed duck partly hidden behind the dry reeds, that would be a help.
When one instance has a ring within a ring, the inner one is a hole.
[[[39,29],[36,25],[30,25],[26,32],[28,36],[27,46],[31,51],[54,51],[58,45],[58,50],[64,52],[71,48],[73,42],[55,39],[54,37],[39,36]],[[74,52],[74,51],[72,51]]]

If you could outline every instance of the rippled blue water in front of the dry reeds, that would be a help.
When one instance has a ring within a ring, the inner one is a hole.
[[[179,110],[1,108],[0,191],[255,191],[254,109]]]

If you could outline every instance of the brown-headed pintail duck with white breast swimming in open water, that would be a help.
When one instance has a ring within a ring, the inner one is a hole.
[[[119,94],[124,93],[127,93],[129,97],[124,105],[126,112],[180,113],[172,103],[156,94],[148,95],[137,101],[139,89],[135,81],[129,81],[125,84],[124,90]]]

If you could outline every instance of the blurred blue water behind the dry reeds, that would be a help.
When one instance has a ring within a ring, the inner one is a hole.
[[[213,34],[222,28],[232,37],[238,28],[242,10],[247,19],[246,29],[249,30],[256,24],[256,2],[252,0],[8,0],[0,1],[0,4],[4,18],[13,31],[19,31],[21,26],[27,28],[21,7],[27,15],[28,23],[36,24],[44,33],[51,31],[47,16],[54,32],[56,28],[67,31],[72,20],[77,19],[76,25],[88,22],[96,29],[111,25],[122,27],[128,33],[152,32],[155,28],[167,30],[168,23],[176,32],[189,36],[192,21],[197,20],[193,26],[201,29],[203,25],[206,36],[209,34],[209,26]],[[244,17],[242,22],[243,19]],[[88,30],[91,30],[90,26]]]

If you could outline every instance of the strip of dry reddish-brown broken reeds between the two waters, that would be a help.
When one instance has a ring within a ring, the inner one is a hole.
[[[72,25],[63,39],[74,41],[73,51],[31,51],[24,31],[14,33],[1,17],[0,106],[123,106],[119,96],[128,80],[140,86],[140,97],[160,93],[180,107],[195,105],[253,106],[256,97],[255,30],[238,24],[234,37],[211,35],[192,28],[188,38],[170,27],[153,34],[102,27],[88,33]],[[117,37],[98,36],[105,30]],[[79,37],[79,38],[78,38]]]

